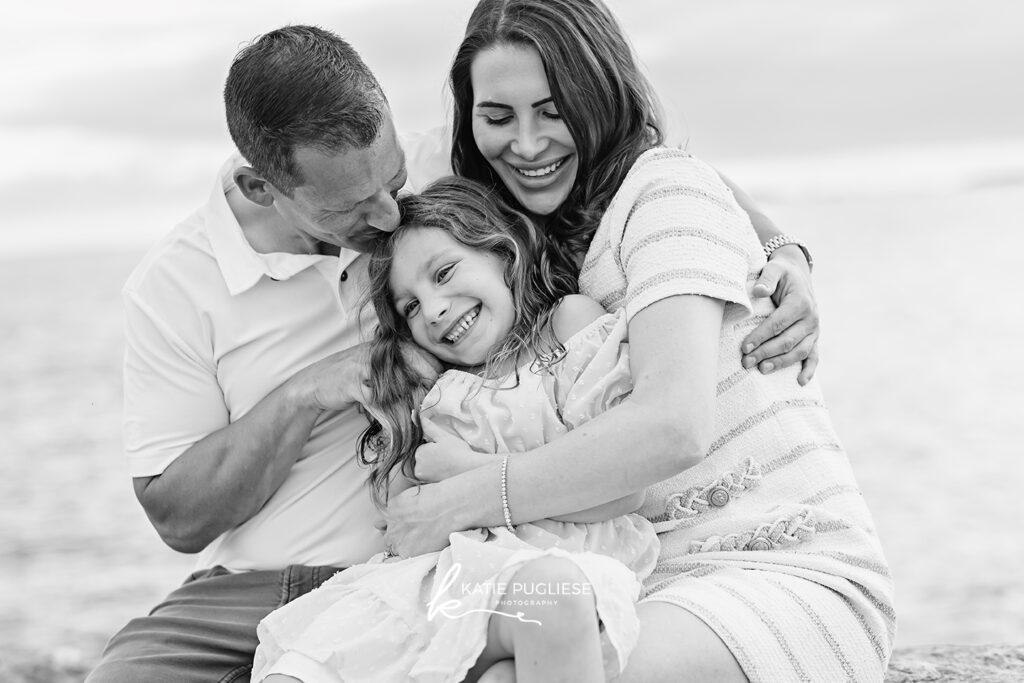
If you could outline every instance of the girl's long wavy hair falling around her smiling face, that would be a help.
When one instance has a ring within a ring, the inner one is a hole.
[[[398,200],[401,222],[382,236],[370,257],[369,298],[379,326],[370,344],[371,425],[358,443],[359,462],[370,467],[374,502],[387,504],[395,468],[415,480],[417,446],[423,432],[416,411],[430,389],[410,367],[402,351],[415,343],[406,318],[394,307],[391,265],[398,244],[410,230],[435,228],[470,249],[497,255],[505,264],[515,317],[505,339],[490,349],[483,369],[497,377],[537,358],[544,368],[564,352],[551,317],[558,301],[577,291],[577,281],[551,241],[524,214],[512,209],[486,186],[460,177],[442,178],[422,194]]]

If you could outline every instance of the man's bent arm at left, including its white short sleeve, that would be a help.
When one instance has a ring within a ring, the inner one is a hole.
[[[365,350],[312,364],[232,416],[194,311],[154,307],[129,288],[123,303],[125,447],[135,494],[171,548],[198,552],[263,507],[323,412],[361,398]]]

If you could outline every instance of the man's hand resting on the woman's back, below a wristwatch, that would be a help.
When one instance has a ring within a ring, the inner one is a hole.
[[[807,384],[818,366],[818,309],[811,271],[795,245],[775,250],[754,285],[754,296],[770,296],[778,308],[742,343],[743,368],[770,373],[802,362],[797,381]]]

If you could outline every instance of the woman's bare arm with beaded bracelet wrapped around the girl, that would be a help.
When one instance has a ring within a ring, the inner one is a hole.
[[[629,400],[568,434],[509,459],[513,522],[615,501],[700,462],[715,410],[724,304],[663,299],[630,322]],[[436,550],[452,531],[504,523],[501,460],[396,497],[388,541],[401,555]]]

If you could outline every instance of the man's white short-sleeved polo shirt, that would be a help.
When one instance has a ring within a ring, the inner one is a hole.
[[[408,163],[419,166],[411,146]],[[161,474],[297,372],[361,339],[366,259],[349,250],[254,251],[225,199],[238,191],[231,173],[241,163],[224,164],[206,206],[159,242],[124,287],[124,439],[133,477]],[[365,315],[362,333],[373,324]],[[355,408],[318,421],[281,488],[208,546],[197,568],[348,565],[383,550],[367,471],[355,460],[366,426]]]

